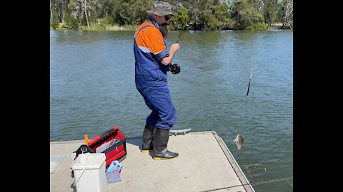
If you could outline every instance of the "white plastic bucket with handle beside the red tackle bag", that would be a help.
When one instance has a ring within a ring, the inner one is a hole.
[[[77,192],[102,191],[106,182],[105,160],[104,153],[86,153],[77,156],[76,160],[71,164]]]

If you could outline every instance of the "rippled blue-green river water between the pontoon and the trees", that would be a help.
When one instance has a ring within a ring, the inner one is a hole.
[[[50,31],[51,142],[114,126],[141,136],[150,111],[134,83],[133,36]],[[168,48],[178,36],[169,32]],[[173,63],[181,73],[168,75],[178,114],[172,129],[217,132],[250,182],[293,176],[293,32],[184,31],[179,44]],[[293,191],[293,180],[254,189]]]

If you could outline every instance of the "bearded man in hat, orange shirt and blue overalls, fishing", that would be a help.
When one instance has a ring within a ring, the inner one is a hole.
[[[154,160],[173,159],[178,153],[168,151],[169,130],[177,120],[177,113],[170,95],[167,71],[170,69],[179,43],[169,50],[159,31],[174,16],[172,6],[163,1],[155,1],[147,13],[150,16],[137,28],[134,34],[134,58],[136,88],[152,110],[146,118],[141,152],[154,151]]]

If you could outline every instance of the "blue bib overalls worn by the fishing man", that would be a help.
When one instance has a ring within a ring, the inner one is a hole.
[[[136,36],[146,27],[154,25],[142,27],[134,36],[136,88],[152,110],[146,118],[146,124],[155,125],[159,129],[171,129],[177,120],[177,112],[168,87],[166,72],[169,65],[160,63],[154,53],[144,53],[136,44]]]

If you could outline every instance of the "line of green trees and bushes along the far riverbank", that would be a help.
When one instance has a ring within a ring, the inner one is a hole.
[[[50,28],[134,30],[155,0],[50,0]],[[168,30],[263,31],[273,23],[293,26],[293,0],[169,0]]]

